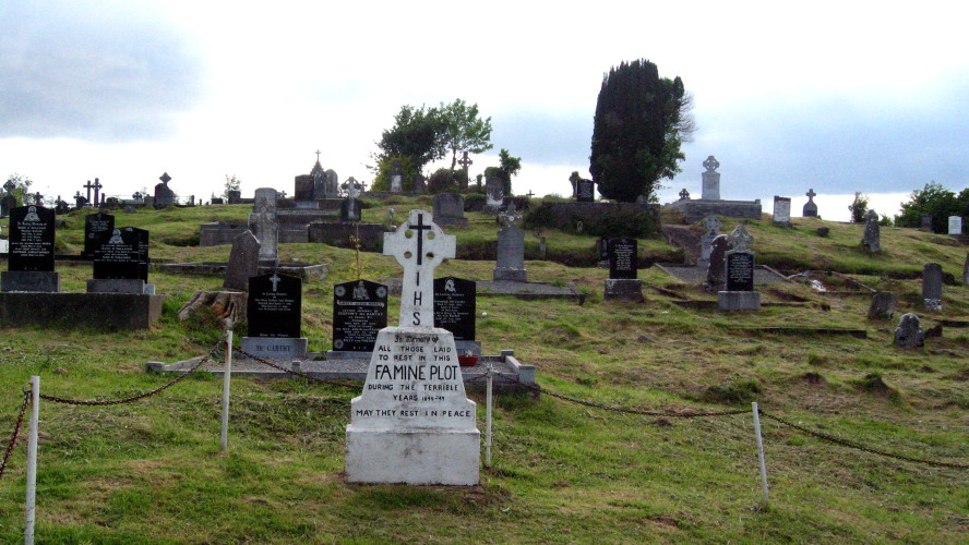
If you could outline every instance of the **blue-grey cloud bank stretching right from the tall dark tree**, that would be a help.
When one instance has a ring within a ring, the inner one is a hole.
[[[969,85],[945,108],[926,102],[874,111],[842,100],[759,111],[697,112],[701,131],[683,147],[674,187],[699,187],[703,160],[720,161],[721,196],[910,192],[935,180],[958,191],[969,182]],[[928,107],[925,107],[928,106]]]

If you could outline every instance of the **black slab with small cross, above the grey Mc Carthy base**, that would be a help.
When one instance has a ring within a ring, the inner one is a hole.
[[[249,337],[299,338],[301,310],[300,278],[273,272],[249,279]]]

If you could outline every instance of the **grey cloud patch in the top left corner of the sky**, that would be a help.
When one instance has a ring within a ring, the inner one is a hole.
[[[160,138],[201,97],[200,63],[155,13],[4,2],[0,20],[0,137]]]

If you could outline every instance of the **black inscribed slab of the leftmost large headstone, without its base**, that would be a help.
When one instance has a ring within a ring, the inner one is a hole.
[[[10,210],[9,270],[53,271],[53,210],[20,206]]]

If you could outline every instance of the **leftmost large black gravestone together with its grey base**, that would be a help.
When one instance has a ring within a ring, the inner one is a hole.
[[[0,291],[60,291],[53,270],[55,213],[43,206],[10,210],[8,270]]]

